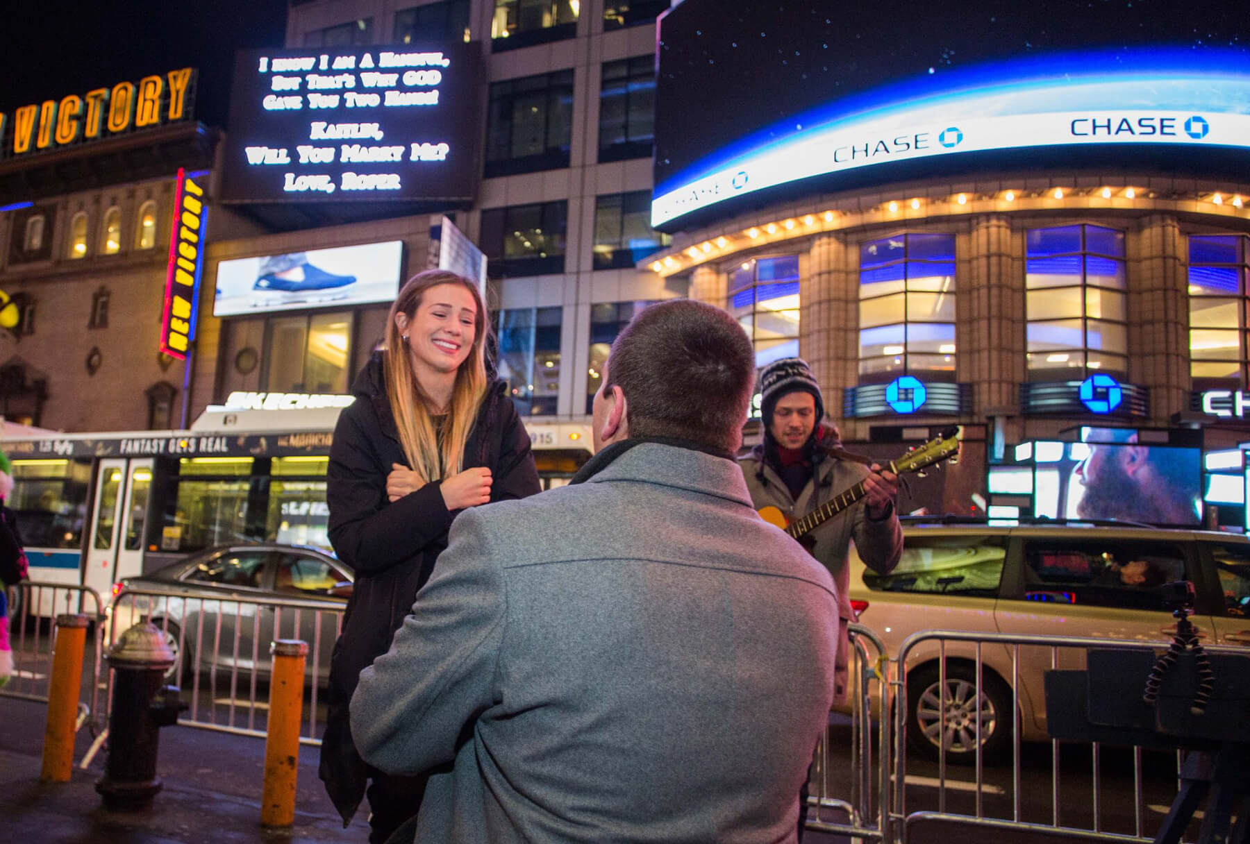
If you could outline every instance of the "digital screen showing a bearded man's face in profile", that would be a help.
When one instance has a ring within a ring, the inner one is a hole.
[[[1140,444],[1135,431],[1088,431],[1089,442],[1065,443],[1069,518],[1201,523],[1201,449]]]

